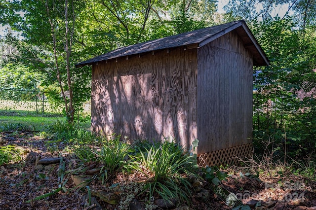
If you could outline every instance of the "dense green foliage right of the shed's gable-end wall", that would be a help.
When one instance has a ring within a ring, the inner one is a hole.
[[[254,148],[257,154],[268,149],[273,158],[284,163],[316,152],[316,104],[311,92],[316,65],[308,54],[315,41],[306,39],[294,26],[292,18],[253,22],[254,35],[271,61],[253,74]],[[298,98],[298,93],[310,95]]]

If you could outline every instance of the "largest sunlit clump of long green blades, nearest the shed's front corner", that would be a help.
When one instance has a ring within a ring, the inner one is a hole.
[[[143,192],[148,193],[149,198],[157,193],[165,201],[180,199],[189,204],[192,186],[184,176],[196,175],[195,157],[167,141],[139,150],[139,155],[133,158],[135,169],[150,178]]]

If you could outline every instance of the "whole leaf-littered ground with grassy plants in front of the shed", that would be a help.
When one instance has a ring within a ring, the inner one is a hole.
[[[106,138],[92,134],[84,121],[69,125],[62,118],[46,126],[29,122],[1,122],[1,209],[316,206],[315,168],[275,162],[269,153],[275,150],[238,167],[198,168],[194,154],[169,140]]]

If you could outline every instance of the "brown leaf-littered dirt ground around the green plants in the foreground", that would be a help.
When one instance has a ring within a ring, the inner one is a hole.
[[[20,148],[22,160],[14,164],[0,166],[0,210],[89,210],[89,209],[122,209],[119,205],[104,202],[99,197],[94,197],[90,206],[87,204],[88,187],[76,187],[72,177],[79,163],[72,154],[65,150],[49,152],[45,140],[34,136],[33,133],[10,132],[0,134],[0,146],[15,145]],[[62,146],[62,145],[61,145]],[[40,165],[40,159],[47,157],[60,157],[65,162],[64,177],[61,180],[61,166],[59,163]],[[221,210],[233,209],[226,205],[227,194],[234,193],[243,204],[248,204],[250,209],[275,209],[275,210],[316,210],[316,183],[312,180],[292,174],[269,176],[261,173],[259,177],[245,175],[233,168],[227,169],[229,176],[220,187],[201,182],[202,191],[192,195],[191,209],[194,210]],[[113,183],[124,184],[128,177],[118,176]],[[54,192],[59,187],[59,192],[35,200],[36,198]],[[109,186],[103,187],[99,182],[91,182],[89,188],[110,191]],[[121,198],[124,192],[114,192],[114,196]],[[202,195],[203,194],[203,195]],[[233,195],[233,194],[232,194]],[[232,197],[231,197],[232,198]],[[144,198],[137,198],[143,202]],[[29,203],[28,203],[29,201]],[[235,206],[238,206],[235,204]],[[131,206],[129,207],[130,209]],[[137,209],[137,207],[133,207]],[[172,209],[189,209],[179,205]],[[171,209],[171,208],[170,208]]]

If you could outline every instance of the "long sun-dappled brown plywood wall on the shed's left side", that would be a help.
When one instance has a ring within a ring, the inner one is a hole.
[[[197,49],[94,64],[91,126],[106,135],[170,137],[190,146],[197,138]]]

